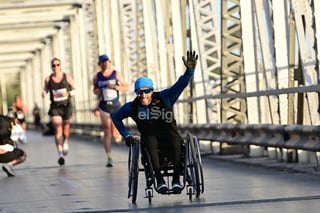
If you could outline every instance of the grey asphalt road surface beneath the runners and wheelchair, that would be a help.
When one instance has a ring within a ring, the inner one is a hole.
[[[53,137],[28,131],[25,163],[17,175],[0,173],[2,212],[318,212],[318,175],[270,166],[266,160],[217,160],[203,157],[204,194],[189,201],[180,195],[154,193],[144,198],[139,176],[136,204],[127,197],[127,147],[113,145],[114,167],[105,167],[100,139],[72,137],[66,165],[57,164]],[[241,162],[242,161],[242,162]],[[259,164],[257,166],[257,164]],[[264,166],[263,166],[264,165]],[[300,166],[301,167],[301,166]]]

